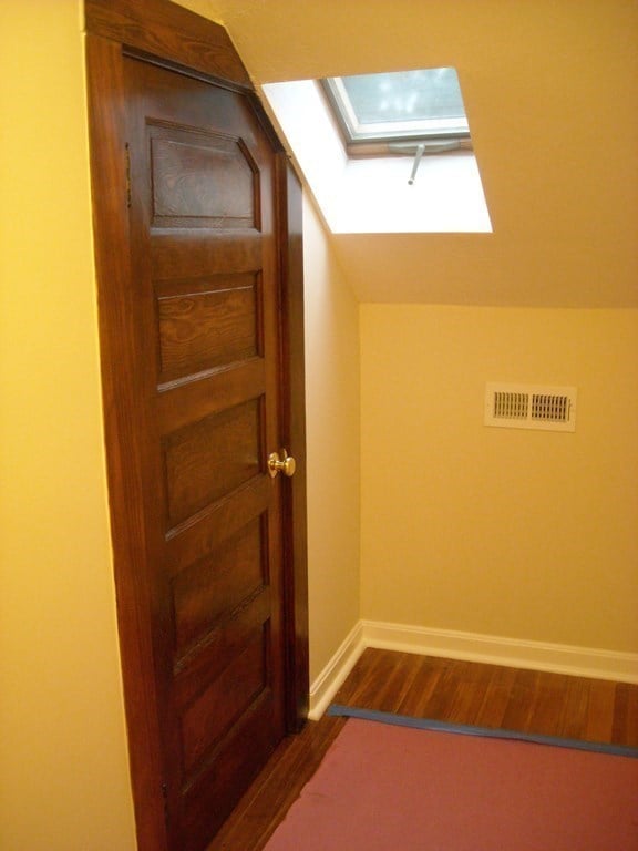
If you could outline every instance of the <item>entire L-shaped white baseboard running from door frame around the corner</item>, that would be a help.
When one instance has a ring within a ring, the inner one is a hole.
[[[310,686],[311,720],[321,718],[367,647],[638,684],[636,653],[359,621]]]

